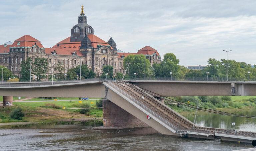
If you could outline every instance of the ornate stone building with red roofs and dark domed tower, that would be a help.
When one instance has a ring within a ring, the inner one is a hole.
[[[117,45],[112,37],[106,42],[96,35],[94,29],[87,23],[87,16],[82,6],[78,16],[78,23],[71,28],[71,36],[58,42],[52,48],[44,48],[41,42],[30,35],[24,35],[13,43],[7,42],[0,45],[0,65],[8,67],[14,75],[20,77],[21,61],[31,57],[46,58],[48,65],[47,75],[51,75],[54,64],[62,63],[67,72],[70,68],[86,64],[97,76],[102,74],[104,65],[114,68],[117,72],[124,73],[123,59],[129,54],[144,54],[153,63],[160,63],[161,56],[157,50],[145,46],[137,53],[124,53],[117,50]]]

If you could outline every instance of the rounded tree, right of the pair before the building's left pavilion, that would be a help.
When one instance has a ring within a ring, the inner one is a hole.
[[[46,78],[48,62],[46,58],[36,58],[33,66],[33,74],[37,76],[37,81]]]

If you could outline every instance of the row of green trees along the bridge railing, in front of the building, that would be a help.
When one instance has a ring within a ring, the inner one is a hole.
[[[227,60],[221,59],[216,60],[209,58],[205,69],[203,70],[189,70],[184,66],[179,65],[179,59],[173,53],[166,53],[161,63],[154,63],[152,66],[150,61],[146,59],[143,54],[131,54],[124,58],[123,69],[127,69],[125,78],[144,78],[144,70],[146,71],[146,78],[166,78],[172,77],[176,79],[182,78],[197,78],[207,77],[209,78],[226,78],[226,62]],[[128,67],[128,63],[130,63]],[[254,65],[255,66],[255,65]],[[20,81],[30,81],[30,68],[31,74],[37,77],[37,81],[41,79],[51,79],[52,75],[46,75],[48,62],[45,58],[36,58],[32,61],[32,58],[28,57],[26,60],[21,62],[21,78]],[[128,68],[127,68],[128,67]],[[1,67],[2,68],[2,67]],[[51,68],[51,67],[50,67]],[[75,80],[80,79],[80,66],[65,71],[62,63],[54,64],[54,80]],[[7,68],[3,69],[3,79],[6,80],[12,77],[12,73]],[[250,71],[250,75],[248,75]],[[65,76],[66,74],[66,76]],[[0,72],[1,75],[1,72]],[[78,76],[77,76],[78,75]],[[235,60],[228,60],[228,77],[235,79],[250,79],[256,78],[256,68],[251,68],[251,64],[245,62],[237,62]],[[81,79],[94,78],[96,74],[92,69],[89,69],[87,65],[81,65]],[[102,75],[99,78],[122,78],[123,73],[113,73],[113,66],[105,65],[102,68]]]

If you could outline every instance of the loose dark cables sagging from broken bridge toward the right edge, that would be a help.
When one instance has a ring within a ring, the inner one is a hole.
[[[132,86],[133,86],[133,85],[132,85]],[[134,87],[134,86],[133,86],[133,87]],[[129,87],[127,87],[127,88],[129,88]],[[131,89],[131,88],[129,88],[129,89]],[[143,88],[141,88],[141,89],[143,89]],[[133,90],[133,89],[132,89],[132,90]],[[136,90],[134,90],[134,91],[136,91]],[[148,91],[148,90],[147,90],[147,91],[142,90],[142,91],[143,91],[143,92],[146,92],[146,93],[151,92],[151,91]],[[145,95],[144,93],[141,93],[141,92],[139,92],[139,91],[136,91],[136,92]],[[149,93],[149,94],[156,95],[157,93],[151,92],[151,93]],[[180,102],[180,101],[177,101],[177,100],[174,100],[174,99],[170,99],[170,98],[168,98],[168,97],[161,96],[161,95],[159,95],[159,94],[157,94],[157,95],[158,95],[158,97],[163,98],[164,100],[166,100],[166,102],[168,102],[168,103],[170,103],[170,102],[173,102],[173,103],[183,103],[183,102]],[[151,96],[150,96],[150,97],[151,97]],[[157,99],[157,98],[155,98],[155,99]],[[160,100],[160,99],[158,99],[158,100]],[[162,101],[162,100],[160,100],[160,101]],[[177,104],[173,104],[173,105],[177,105]],[[178,106],[178,105],[177,105],[177,106]],[[194,110],[197,109],[197,106],[191,105],[191,104],[180,104],[180,106],[185,107],[185,108],[189,108],[189,109],[194,109]],[[202,108],[202,107],[200,107],[198,110],[204,111],[204,112],[208,112],[208,113],[215,113],[215,114],[220,114],[220,115],[227,115],[227,116],[246,117],[246,118],[256,118],[256,116],[248,116],[248,115],[241,115],[241,114],[235,114],[235,113],[222,112],[222,111],[217,111],[217,110],[212,110],[212,109],[207,109],[207,108]]]

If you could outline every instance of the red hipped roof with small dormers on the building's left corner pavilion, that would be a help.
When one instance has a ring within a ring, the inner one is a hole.
[[[18,43],[20,43],[18,45]],[[30,35],[24,35],[18,39],[16,39],[11,47],[32,47],[33,45],[35,45],[35,43],[40,47],[43,48],[43,45],[41,44],[41,42],[37,39],[35,39],[34,37],[30,36]]]

